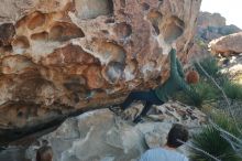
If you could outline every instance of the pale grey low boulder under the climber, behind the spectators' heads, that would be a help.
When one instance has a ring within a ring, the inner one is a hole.
[[[141,104],[133,104],[125,114],[130,116],[127,121],[107,109],[69,118],[56,131],[33,143],[25,155],[34,159],[38,149],[43,149],[42,144],[47,144],[52,148],[54,161],[136,161],[147,148],[166,143],[173,122],[187,126],[191,135],[198,132],[206,121],[198,109],[169,103],[154,106],[150,119],[132,125],[132,116],[141,108]],[[179,151],[188,155],[185,146]]]

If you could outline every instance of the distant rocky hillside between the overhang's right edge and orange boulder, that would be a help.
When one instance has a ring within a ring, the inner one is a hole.
[[[234,24],[227,25],[226,18],[220,13],[199,12],[195,41],[189,51],[189,60],[209,56],[208,44],[215,39],[241,32]]]

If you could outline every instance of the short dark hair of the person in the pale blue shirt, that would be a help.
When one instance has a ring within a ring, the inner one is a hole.
[[[186,142],[188,140],[188,130],[185,126],[175,124],[169,130],[167,146],[172,148],[178,148],[183,144],[178,140]]]

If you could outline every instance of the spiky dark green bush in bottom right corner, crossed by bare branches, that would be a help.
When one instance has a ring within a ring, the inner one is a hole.
[[[228,115],[217,112],[217,115],[213,116],[213,121],[230,133],[239,136],[239,131]],[[221,137],[220,131],[212,126],[207,126],[201,129],[201,132],[194,135],[191,142],[195,147],[205,150],[222,161],[242,161],[232,149],[231,144]],[[190,158],[196,161],[213,160],[196,150],[191,150]]]

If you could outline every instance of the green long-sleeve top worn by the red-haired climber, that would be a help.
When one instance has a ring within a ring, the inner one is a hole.
[[[193,97],[195,92],[184,80],[183,67],[176,58],[176,51],[174,49],[169,52],[169,78],[163,85],[155,88],[156,96],[164,103],[168,101],[169,97],[178,90],[184,90],[188,96]]]

